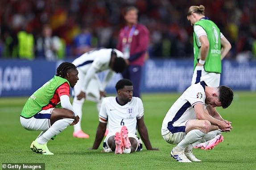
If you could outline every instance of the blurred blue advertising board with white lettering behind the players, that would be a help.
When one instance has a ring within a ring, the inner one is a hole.
[[[70,62],[70,61],[69,61]],[[0,97],[29,96],[56,74],[62,61],[0,60]],[[233,90],[256,91],[256,61],[237,63],[223,61],[221,85]],[[103,80],[106,72],[100,73]],[[182,92],[190,86],[193,60],[149,59],[145,62],[141,80],[142,92]],[[115,84],[121,79],[114,75],[107,93],[116,93]]]

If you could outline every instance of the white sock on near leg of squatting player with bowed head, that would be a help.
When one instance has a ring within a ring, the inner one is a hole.
[[[194,129],[190,130],[184,139],[182,139],[181,142],[178,143],[178,145],[175,147],[175,151],[183,151],[187,146],[190,144],[200,140],[202,137],[204,137],[206,134],[203,133],[201,130]]]

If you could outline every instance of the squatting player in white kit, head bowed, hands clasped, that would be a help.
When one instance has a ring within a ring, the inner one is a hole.
[[[215,107],[227,108],[233,91],[227,86],[208,87],[204,81],[193,84],[173,103],[165,115],[161,134],[166,142],[178,144],[171,156],[178,162],[201,162],[192,153],[194,146],[230,131],[231,122],[222,119]],[[206,105],[211,105],[207,107]]]

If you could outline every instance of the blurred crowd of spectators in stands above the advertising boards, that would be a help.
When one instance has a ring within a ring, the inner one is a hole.
[[[186,13],[200,4],[231,42],[227,59],[256,58],[255,0],[0,0],[0,58],[42,58],[47,26],[57,59],[115,48],[128,5],[139,9],[139,22],[149,29],[151,58],[193,58]]]

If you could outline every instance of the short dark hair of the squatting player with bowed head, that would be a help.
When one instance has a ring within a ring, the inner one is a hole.
[[[223,109],[226,109],[232,103],[234,93],[231,90],[231,88],[227,86],[219,86],[218,91],[219,91],[219,101]]]

